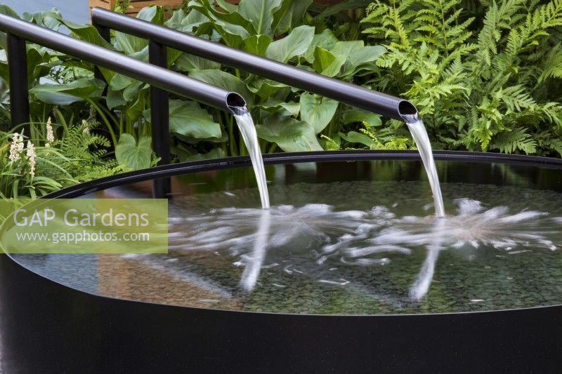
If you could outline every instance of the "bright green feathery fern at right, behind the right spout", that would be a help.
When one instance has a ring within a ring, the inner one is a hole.
[[[370,83],[412,100],[438,145],[560,154],[544,134],[562,126],[562,0],[377,0],[363,22],[388,48]]]

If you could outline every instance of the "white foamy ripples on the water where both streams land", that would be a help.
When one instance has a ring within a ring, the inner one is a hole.
[[[410,299],[419,301],[431,287],[440,251],[556,251],[562,244],[560,218],[549,213],[511,211],[507,206],[485,208],[485,203],[466,198],[454,203],[457,213],[441,220],[431,215],[397,215],[392,211],[395,204],[364,211],[338,211],[322,203],[273,206],[268,211],[211,209],[201,215],[176,217],[169,248],[172,252],[226,251],[233,265],[244,267],[240,288],[246,292],[256,287],[266,268],[317,274],[321,283],[348,286],[346,279],[325,279],[325,268],[338,262],[346,267],[384,266],[397,255],[425,251],[409,291]],[[275,261],[268,262],[268,258]]]

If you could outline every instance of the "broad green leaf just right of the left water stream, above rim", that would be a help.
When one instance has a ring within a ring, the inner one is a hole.
[[[321,151],[314,128],[309,123],[286,117],[270,117],[264,125],[257,125],[258,136],[275,142],[285,152]]]

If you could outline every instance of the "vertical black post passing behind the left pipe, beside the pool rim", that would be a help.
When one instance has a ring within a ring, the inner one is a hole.
[[[156,41],[148,41],[148,62],[152,65],[168,68],[167,47]],[[150,86],[150,123],[152,123],[152,145],[159,165],[170,163],[170,114],[168,93],[155,86]],[[162,199],[171,192],[169,178],[159,178],[152,182],[152,196]]]

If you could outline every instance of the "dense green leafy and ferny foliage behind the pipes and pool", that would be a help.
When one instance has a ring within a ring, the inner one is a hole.
[[[437,149],[562,154],[561,0],[346,0],[329,8],[312,0],[188,0],[167,14],[150,6],[138,18],[412,100]],[[107,43],[54,9],[22,18],[148,61],[148,42],[135,36],[112,32]],[[154,163],[147,85],[103,70],[106,84],[87,63],[28,49],[32,121],[44,123],[54,110],[84,118],[93,108],[120,163]],[[0,122],[8,123],[2,53]],[[172,49],[169,68],[242,94],[263,152],[414,147],[403,123],[328,98]],[[170,116],[177,161],[247,152],[230,114],[171,95]]]

